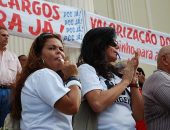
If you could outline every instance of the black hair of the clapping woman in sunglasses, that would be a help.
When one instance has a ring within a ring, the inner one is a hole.
[[[113,77],[113,66],[107,63],[105,51],[109,46],[117,46],[115,38],[115,29],[111,27],[99,27],[88,31],[83,38],[78,65],[87,63],[96,69],[98,75],[106,79]]]

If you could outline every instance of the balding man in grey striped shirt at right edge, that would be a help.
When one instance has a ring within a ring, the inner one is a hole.
[[[170,130],[170,45],[160,49],[157,70],[143,86],[144,113],[148,130]]]

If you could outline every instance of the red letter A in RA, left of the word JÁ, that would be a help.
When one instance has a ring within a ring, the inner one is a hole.
[[[18,14],[13,14],[11,22],[8,22],[9,29],[13,30],[15,26],[18,26],[18,32],[22,32],[21,17]]]

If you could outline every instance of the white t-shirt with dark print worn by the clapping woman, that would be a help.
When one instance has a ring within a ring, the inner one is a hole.
[[[82,64],[78,68],[79,78],[82,84],[82,96],[94,89],[107,90],[107,81],[105,78],[98,76],[95,69],[88,65]],[[121,81],[119,77],[114,75],[110,80],[110,84],[117,84]],[[101,112],[98,116],[97,130],[135,130],[135,120],[132,117],[130,107],[130,96],[125,90],[118,97],[116,102]]]

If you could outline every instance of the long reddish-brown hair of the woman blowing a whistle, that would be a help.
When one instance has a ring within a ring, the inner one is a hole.
[[[27,77],[33,72],[35,72],[36,70],[39,70],[45,67],[41,59],[41,52],[46,41],[49,38],[56,38],[61,41],[60,37],[56,34],[42,33],[41,35],[39,35],[33,41],[29,55],[28,55],[27,63],[25,67],[23,68],[21,74],[17,78],[16,87],[14,88],[13,93],[12,93],[12,112],[11,112],[11,116],[15,119],[21,118],[21,111],[22,111],[21,90],[24,86],[24,83]]]

